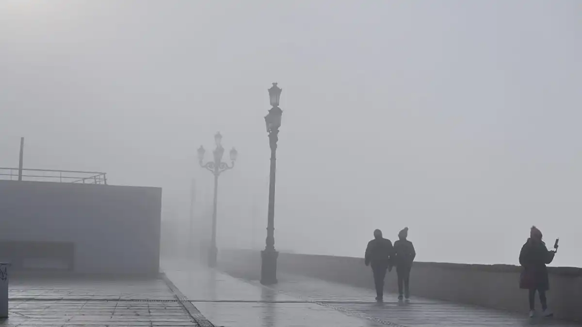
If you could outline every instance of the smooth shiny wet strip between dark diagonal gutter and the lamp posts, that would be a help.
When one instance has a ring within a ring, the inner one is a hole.
[[[215,270],[172,262],[162,262],[162,266],[180,292],[215,326],[385,326]]]

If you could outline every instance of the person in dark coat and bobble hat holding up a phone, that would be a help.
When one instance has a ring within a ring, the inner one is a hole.
[[[552,316],[546,303],[546,291],[549,290],[549,278],[547,264],[553,260],[556,251],[548,251],[542,232],[533,226],[530,230],[530,238],[521,247],[519,254],[519,264],[523,267],[521,271],[520,288],[529,290],[530,317],[535,315],[535,292],[540,294],[543,315]]]

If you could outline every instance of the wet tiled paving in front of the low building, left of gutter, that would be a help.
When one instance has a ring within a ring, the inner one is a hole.
[[[0,326],[198,326],[164,280],[10,280]]]

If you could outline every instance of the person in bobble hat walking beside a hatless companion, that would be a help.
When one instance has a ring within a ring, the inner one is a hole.
[[[408,301],[410,299],[410,269],[412,268],[414,257],[416,257],[416,251],[414,251],[412,242],[407,240],[406,237],[408,237],[407,227],[400,230],[400,233],[398,233],[399,240],[394,242],[394,252],[396,254],[394,264],[398,274],[398,300],[402,300],[404,289],[404,297]]]

